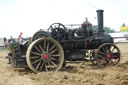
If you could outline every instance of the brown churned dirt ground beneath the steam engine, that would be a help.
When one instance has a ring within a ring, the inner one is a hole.
[[[120,65],[95,68],[90,62],[68,64],[59,72],[34,74],[13,68],[0,51],[0,85],[128,85],[128,43],[117,44],[121,51]]]

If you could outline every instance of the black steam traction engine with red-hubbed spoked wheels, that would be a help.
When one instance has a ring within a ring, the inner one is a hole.
[[[23,43],[10,43],[9,63],[14,67],[27,67],[33,72],[58,71],[66,61],[90,58],[99,66],[118,65],[119,48],[103,30],[103,10],[97,10],[98,33],[88,21],[76,29],[54,23],[48,31],[38,31]]]

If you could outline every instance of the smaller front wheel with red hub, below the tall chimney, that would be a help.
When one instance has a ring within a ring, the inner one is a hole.
[[[99,46],[96,53],[96,62],[100,67],[115,66],[120,62],[120,50],[112,43]]]

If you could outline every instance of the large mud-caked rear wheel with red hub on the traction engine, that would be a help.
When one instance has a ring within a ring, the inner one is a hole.
[[[26,61],[29,68],[35,73],[58,71],[64,61],[64,52],[56,40],[40,38],[28,47]]]

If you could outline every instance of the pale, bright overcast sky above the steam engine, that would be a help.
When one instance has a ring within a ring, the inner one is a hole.
[[[0,0],[0,38],[31,37],[55,22],[97,25],[96,10],[104,10],[104,26],[119,31],[128,26],[128,0]]]

